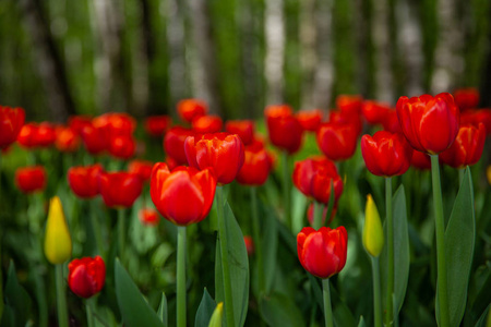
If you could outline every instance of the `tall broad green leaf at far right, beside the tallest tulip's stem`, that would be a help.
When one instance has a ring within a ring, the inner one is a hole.
[[[445,256],[451,326],[458,326],[467,303],[467,287],[476,238],[474,191],[467,167],[445,230]],[[436,296],[436,301],[439,298]],[[439,305],[436,305],[436,308]],[[439,315],[436,315],[439,316]]]

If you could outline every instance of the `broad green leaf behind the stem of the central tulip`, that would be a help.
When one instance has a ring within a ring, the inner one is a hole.
[[[243,326],[249,306],[249,258],[242,230],[228,205],[224,207],[225,233],[228,242],[228,265],[233,299],[236,326]],[[224,278],[219,242],[216,244],[215,300],[225,302]],[[224,305],[227,305],[224,303]]]

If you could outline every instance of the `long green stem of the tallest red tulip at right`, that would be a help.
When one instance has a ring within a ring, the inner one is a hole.
[[[440,326],[450,326],[448,298],[445,261],[445,221],[443,218],[442,185],[440,183],[439,155],[431,156],[431,180],[433,183],[434,226],[436,233],[436,283],[440,304]]]

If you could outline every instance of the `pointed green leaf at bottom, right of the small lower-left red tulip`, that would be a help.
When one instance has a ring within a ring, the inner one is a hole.
[[[119,259],[115,261],[115,281],[116,296],[125,326],[164,326]]]

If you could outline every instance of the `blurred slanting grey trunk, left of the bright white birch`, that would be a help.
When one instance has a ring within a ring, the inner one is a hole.
[[[197,57],[194,69],[196,75],[193,78],[194,95],[208,104],[212,113],[220,114],[216,46],[212,34],[208,2],[206,0],[189,0],[188,3]]]

